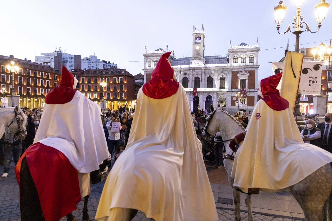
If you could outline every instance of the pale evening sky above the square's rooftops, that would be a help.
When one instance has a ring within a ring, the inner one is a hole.
[[[295,0],[288,6],[280,31],[293,22]],[[118,64],[132,75],[143,73],[144,47],[166,48],[177,58],[192,56],[193,25],[205,29],[205,56],[225,56],[232,45],[249,45],[259,39],[258,78],[272,75],[269,62],[284,56],[289,39],[294,51],[295,35],[278,34],[274,7],[279,1],[266,0],[181,0],[181,1],[113,1],[113,0],[30,0],[1,1],[0,54],[35,61],[35,55],[52,52],[60,46],[66,53],[88,57],[96,53],[101,60]],[[303,0],[304,22],[315,31],[314,5],[319,0]],[[329,0],[327,0],[329,2]],[[330,2],[332,3],[332,2]],[[332,6],[317,33],[300,34],[301,47],[329,44],[332,38]],[[305,29],[305,27],[303,28]],[[312,43],[316,42],[316,43]],[[307,44],[309,43],[309,44]]]

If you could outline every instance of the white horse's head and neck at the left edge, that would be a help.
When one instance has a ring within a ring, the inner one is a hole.
[[[24,139],[27,136],[26,125],[27,117],[18,106],[0,108],[0,138],[8,127],[17,139]]]

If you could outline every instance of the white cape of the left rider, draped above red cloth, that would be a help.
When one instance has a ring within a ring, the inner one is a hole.
[[[89,172],[109,157],[100,115],[100,106],[76,91],[68,103],[45,104],[34,139],[68,158],[78,171],[82,197],[91,192]]]

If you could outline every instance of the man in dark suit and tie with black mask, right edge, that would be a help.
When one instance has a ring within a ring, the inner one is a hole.
[[[317,125],[317,128],[322,132],[322,137],[319,139],[319,141],[317,139],[317,141],[320,143],[321,148],[332,153],[332,114],[326,113],[324,116],[324,121],[325,122],[319,123]]]

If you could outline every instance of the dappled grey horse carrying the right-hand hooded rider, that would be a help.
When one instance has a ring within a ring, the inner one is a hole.
[[[215,112],[210,105],[211,114],[207,117],[208,125],[206,132],[202,137],[210,139],[209,135],[220,132],[223,140],[234,138],[236,135],[244,132],[244,128],[230,114],[226,113],[221,107]],[[212,115],[213,113],[213,115]],[[211,117],[212,116],[212,117]],[[226,154],[235,156],[235,153],[229,148],[229,141],[225,142]],[[240,192],[233,186],[234,178],[230,177],[233,168],[233,160],[224,159],[224,166],[228,174],[228,182],[233,188],[235,204],[235,220],[241,220],[240,217]],[[304,217],[308,221],[332,220],[332,166],[326,164],[314,173],[307,176],[299,183],[282,190],[264,190],[269,192],[290,191],[300,204]],[[246,195],[245,203],[248,208],[248,220],[254,220],[251,210],[251,196]]]

